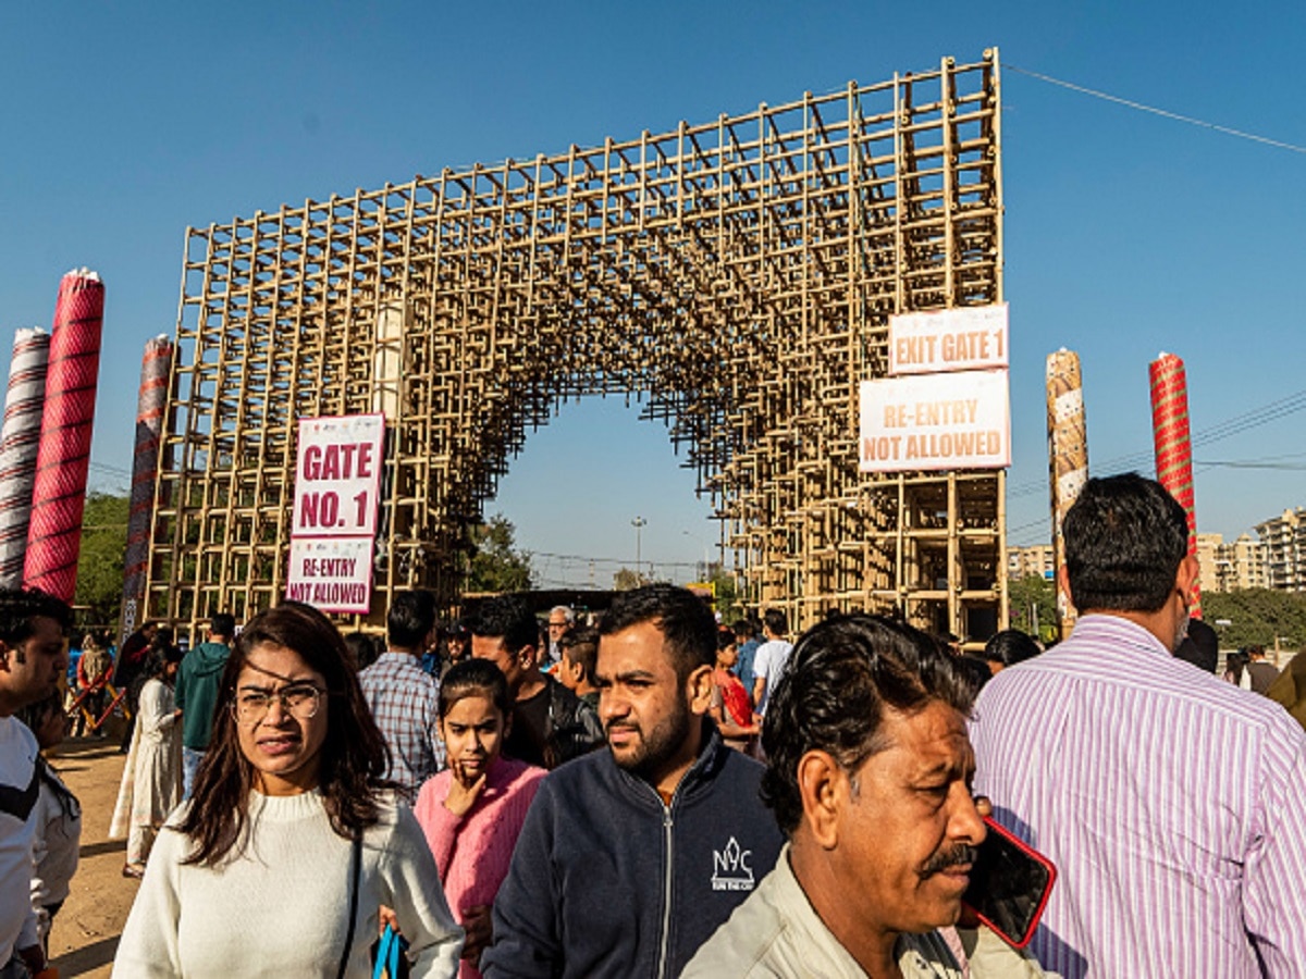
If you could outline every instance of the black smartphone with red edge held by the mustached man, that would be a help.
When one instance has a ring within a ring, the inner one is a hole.
[[[989,835],[970,868],[970,884],[961,897],[980,920],[1012,948],[1023,949],[1047,906],[1057,881],[1053,862],[1004,829],[985,818]]]

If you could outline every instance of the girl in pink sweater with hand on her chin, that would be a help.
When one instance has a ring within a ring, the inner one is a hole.
[[[512,723],[508,681],[486,659],[466,659],[440,681],[440,735],[449,768],[427,781],[413,815],[440,869],[449,910],[466,929],[461,979],[481,979],[490,907],[545,770],[500,757]]]

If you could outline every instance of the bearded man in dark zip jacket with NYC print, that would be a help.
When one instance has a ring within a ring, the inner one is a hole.
[[[494,905],[486,979],[674,979],[776,863],[763,768],[707,719],[717,624],[650,585],[599,628],[607,751],[543,781]]]

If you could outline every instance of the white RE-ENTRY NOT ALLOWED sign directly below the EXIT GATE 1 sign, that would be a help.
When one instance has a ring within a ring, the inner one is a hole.
[[[1007,372],[862,381],[858,456],[863,473],[1010,466]]]

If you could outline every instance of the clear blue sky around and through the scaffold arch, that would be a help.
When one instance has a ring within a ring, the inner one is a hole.
[[[1306,5],[5,4],[0,367],[60,275],[108,299],[93,486],[127,484],[141,349],[172,333],[188,225],[475,161],[674,128],[998,46],[1008,65],[1306,145]],[[1047,538],[1043,359],[1080,352],[1093,469],[1151,471],[1147,364],[1192,427],[1306,389],[1306,155],[1004,73],[1013,543]],[[1298,403],[1301,399],[1298,399]],[[1306,411],[1202,446],[1199,529],[1306,505]],[[488,512],[539,555],[692,563],[693,474],[620,399],[563,407]],[[546,582],[582,563],[537,557]],[[615,565],[596,565],[603,585]],[[687,570],[687,569],[686,569]]]

